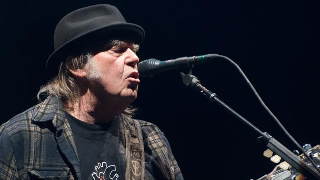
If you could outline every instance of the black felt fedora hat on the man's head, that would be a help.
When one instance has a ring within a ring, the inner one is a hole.
[[[89,42],[122,35],[141,44],[144,30],[136,24],[127,23],[121,12],[113,5],[97,4],[72,11],[56,26],[55,51],[47,60],[47,69],[56,73],[61,61],[69,55],[75,55]]]

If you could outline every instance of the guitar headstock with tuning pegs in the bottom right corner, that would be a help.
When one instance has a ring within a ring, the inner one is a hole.
[[[320,145],[317,145],[314,148],[311,148],[310,145],[306,145],[304,146],[304,149],[306,150],[307,154],[312,158],[312,160],[315,161],[317,166],[320,166]],[[271,150],[268,151],[269,154],[270,151]],[[268,155],[265,156],[268,157]],[[315,169],[304,154],[300,154],[298,155],[298,157],[304,162],[306,162],[311,168]],[[271,161],[273,161],[273,159],[276,159],[276,162],[278,163],[281,158],[278,155],[275,155],[271,157]],[[263,177],[257,180],[306,180],[306,177],[299,173],[296,169],[291,167],[286,161],[283,161],[280,164],[278,164],[271,171],[271,173],[264,175]]]

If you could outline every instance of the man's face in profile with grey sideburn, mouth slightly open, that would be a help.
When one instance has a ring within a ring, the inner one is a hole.
[[[106,47],[87,63],[87,77],[95,79],[102,93],[132,102],[137,97],[140,82],[137,50],[138,46],[129,41]]]

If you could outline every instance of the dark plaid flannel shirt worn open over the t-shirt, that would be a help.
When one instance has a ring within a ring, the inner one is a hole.
[[[62,101],[50,95],[42,103],[0,126],[1,180],[81,179],[77,149],[64,112]],[[150,153],[152,158],[160,159],[161,172],[167,179],[183,180],[160,129],[150,122],[138,122],[144,151]],[[124,134],[121,128],[120,133]],[[120,159],[126,164],[124,149],[120,146]],[[146,176],[145,179],[154,180],[157,177]]]

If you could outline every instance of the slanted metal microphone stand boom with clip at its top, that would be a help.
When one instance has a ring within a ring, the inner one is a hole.
[[[259,137],[257,138],[257,141],[259,143],[265,144],[270,150],[272,150],[273,152],[278,154],[280,157],[282,157],[285,161],[287,161],[294,169],[296,169],[297,171],[302,173],[305,177],[307,177],[308,180],[320,180],[319,173],[317,173],[314,169],[310,168],[307,165],[307,163],[302,161],[298,156],[296,156],[293,152],[288,150],[284,145],[278,142],[275,138],[273,138],[267,132],[262,132],[255,125],[253,125],[251,122],[246,120],[236,111],[234,111],[232,108],[226,105],[223,101],[221,101],[217,97],[216,93],[213,93],[210,90],[207,90],[205,87],[203,87],[200,81],[195,76],[193,76],[191,72],[192,72],[192,69],[190,69],[189,74],[184,74],[182,72],[180,73],[182,76],[182,81],[186,86],[200,92],[211,102],[218,103],[221,107],[226,109],[228,112],[234,115],[237,119],[247,124],[251,129],[253,129],[254,131],[256,131],[256,133],[259,134]]]

